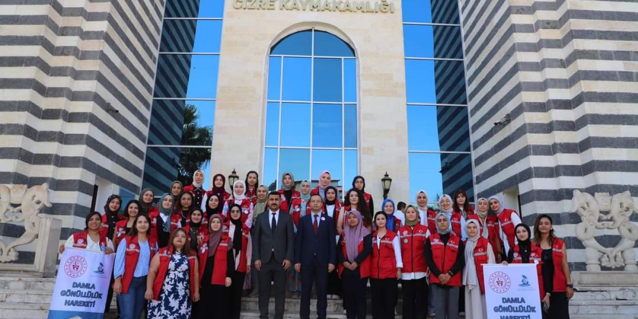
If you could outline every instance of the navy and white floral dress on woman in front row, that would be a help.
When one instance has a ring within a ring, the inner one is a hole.
[[[184,254],[177,252],[170,257],[168,271],[159,300],[150,300],[148,318],[188,319],[191,316],[191,290],[189,263]]]

